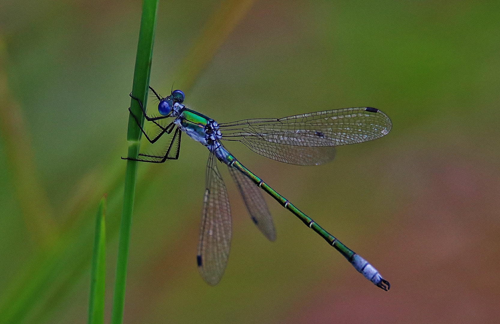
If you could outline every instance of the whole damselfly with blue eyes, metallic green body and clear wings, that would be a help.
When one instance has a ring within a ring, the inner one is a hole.
[[[261,190],[324,238],[366,279],[385,291],[389,290],[389,282],[373,265],[342,244],[247,169],[222,144],[223,141],[239,141],[255,153],[277,161],[318,165],[335,157],[336,146],[360,143],[386,135],[392,123],[385,113],[372,107],[357,107],[304,113],[279,119],[244,119],[219,124],[214,119],[183,105],[185,96],[181,90],[170,91],[170,95],[161,97],[152,87],[149,89],[159,101],[159,115],[148,115],[142,102],[131,93],[130,96],[138,101],[143,116],[136,116],[130,108],[128,110],[150,143],[155,143],[165,134],[170,134],[171,139],[169,142],[167,140],[163,154],[139,153],[137,158],[122,158],[150,163],[177,159],[182,132],[208,149],[196,255],[199,272],[208,284],[215,285],[221,279],[227,265],[231,240],[231,211],[225,184],[217,168],[218,160],[228,166],[229,174],[241,193],[251,220],[267,239],[274,241],[276,233]],[[156,135],[150,136],[144,130],[142,117],[158,127]],[[168,121],[170,122],[167,123]]]

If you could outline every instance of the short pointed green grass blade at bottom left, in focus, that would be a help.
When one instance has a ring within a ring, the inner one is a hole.
[[[106,198],[102,197],[95,216],[95,239],[90,270],[90,298],[88,301],[88,324],[104,323],[104,279],[106,277],[106,225],[104,213]]]

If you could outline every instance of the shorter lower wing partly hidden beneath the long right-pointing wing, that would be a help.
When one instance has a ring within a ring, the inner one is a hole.
[[[246,137],[239,141],[257,154],[298,165],[323,164],[333,160],[336,153],[335,146],[293,146]]]

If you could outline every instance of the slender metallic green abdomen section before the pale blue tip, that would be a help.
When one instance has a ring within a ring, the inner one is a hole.
[[[349,249],[347,246],[342,244],[338,239],[336,239],[333,235],[324,230],[321,226],[319,226],[314,220],[312,220],[309,216],[300,211],[297,207],[291,204],[285,197],[277,193],[273,188],[271,188],[267,183],[262,181],[258,176],[253,174],[250,170],[244,167],[238,160],[234,158],[234,156],[229,155],[229,160],[231,160],[231,166],[243,172],[246,176],[248,176],[256,185],[262,188],[264,191],[269,193],[274,199],[276,199],[283,207],[290,210],[294,215],[296,215],[304,224],[312,228],[316,233],[321,235],[328,244],[333,246],[336,250],[338,250],[349,262],[351,262],[352,257],[354,256],[354,252]]]

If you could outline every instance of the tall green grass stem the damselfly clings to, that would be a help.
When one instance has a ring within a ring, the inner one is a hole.
[[[142,17],[140,21],[137,56],[133,74],[132,95],[139,98],[144,109],[151,73],[151,61],[154,43],[154,29],[156,27],[156,12],[158,0],[144,0],[142,4]],[[142,116],[139,103],[131,99],[130,109],[135,116]],[[143,121],[143,118],[141,118]],[[128,118],[128,157],[137,158],[139,154],[140,128],[135,119]],[[118,239],[118,256],[116,264],[116,277],[114,283],[113,307],[111,310],[111,324],[121,324],[123,321],[123,306],[125,303],[126,267],[128,261],[128,247],[130,228],[132,224],[133,200],[135,194],[135,180],[137,175],[137,162],[127,160],[125,170],[125,187],[123,193],[123,208],[121,210],[120,231]]]

